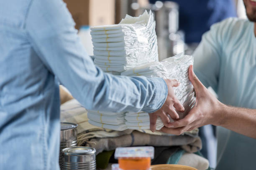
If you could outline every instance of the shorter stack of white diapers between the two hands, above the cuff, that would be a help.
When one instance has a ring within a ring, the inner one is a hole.
[[[162,77],[164,79],[176,79],[180,82],[178,87],[174,88],[174,93],[185,108],[184,112],[178,112],[179,118],[183,118],[192,109],[195,104],[193,86],[188,77],[189,65],[193,64],[193,57],[183,55],[183,53],[174,57],[166,58],[161,62],[151,62],[146,65],[134,67],[133,69],[122,72],[121,75],[146,77]],[[169,117],[170,118],[170,117]],[[170,118],[171,121],[173,121]],[[149,121],[148,121],[149,122]]]

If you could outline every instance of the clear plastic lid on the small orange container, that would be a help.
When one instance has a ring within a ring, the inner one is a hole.
[[[154,158],[154,147],[125,147],[115,149],[115,159],[118,158]]]

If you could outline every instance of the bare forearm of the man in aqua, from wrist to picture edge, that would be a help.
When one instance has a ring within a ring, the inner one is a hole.
[[[256,109],[222,105],[215,125],[256,138]]]

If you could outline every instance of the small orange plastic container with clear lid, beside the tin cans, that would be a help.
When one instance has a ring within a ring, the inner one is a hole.
[[[154,147],[117,148],[115,158],[122,170],[149,170],[154,158]]]

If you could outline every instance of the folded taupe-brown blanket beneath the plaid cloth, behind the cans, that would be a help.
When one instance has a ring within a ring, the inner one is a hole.
[[[150,135],[134,130],[131,134],[114,138],[92,138],[83,144],[96,149],[96,154],[103,150],[115,150],[118,147],[128,146],[180,146],[189,153],[197,152],[202,148],[199,137],[189,135]]]

